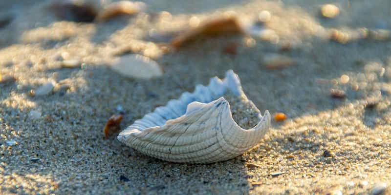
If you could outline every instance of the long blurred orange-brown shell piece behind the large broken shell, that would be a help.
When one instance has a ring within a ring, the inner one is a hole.
[[[191,28],[174,37],[171,45],[178,49],[188,45],[195,39],[203,37],[216,37],[227,34],[241,34],[243,29],[236,17],[224,17],[202,22],[196,28]]]

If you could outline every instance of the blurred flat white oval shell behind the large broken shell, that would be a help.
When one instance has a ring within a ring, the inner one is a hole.
[[[110,67],[120,75],[128,78],[150,79],[163,75],[159,64],[138,54],[121,56]]]

